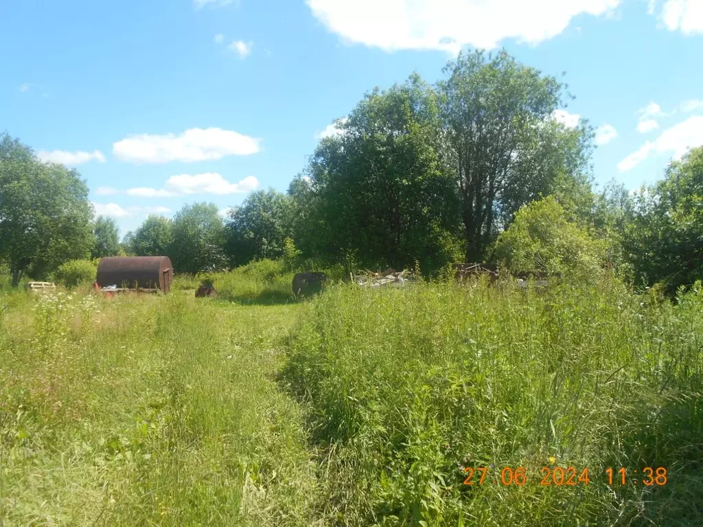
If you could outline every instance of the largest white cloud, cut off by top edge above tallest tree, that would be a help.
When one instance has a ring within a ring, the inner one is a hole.
[[[306,0],[315,18],[347,42],[396,51],[458,53],[555,37],[576,15],[604,15],[621,0]]]

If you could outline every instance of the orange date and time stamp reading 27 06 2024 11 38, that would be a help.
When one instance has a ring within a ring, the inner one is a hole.
[[[463,469],[466,477],[464,485],[483,485],[486,481],[486,474],[489,467],[466,467]],[[592,479],[591,474],[598,474],[598,478]],[[488,481],[496,481],[503,486],[523,486],[528,481],[539,483],[541,486],[579,486],[590,485],[598,480],[609,486],[644,485],[664,486],[669,481],[666,468],[664,467],[644,467],[643,469],[628,470],[625,467],[613,469],[608,467],[604,471],[592,473],[588,467],[542,467],[538,474],[528,474],[525,467],[503,467],[500,475],[489,478]]]

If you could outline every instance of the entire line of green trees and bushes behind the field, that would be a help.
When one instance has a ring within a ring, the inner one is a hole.
[[[34,276],[90,253],[165,254],[181,273],[286,256],[427,275],[458,261],[528,273],[610,267],[671,290],[702,278],[703,150],[639,193],[595,192],[592,127],[555,119],[567,86],[505,52],[462,54],[444,73],[434,85],[413,74],[367,93],[287,193],[254,192],[224,219],[207,203],[150,216],[121,244],[112,220],[92,221],[75,171],[5,136],[0,257]]]

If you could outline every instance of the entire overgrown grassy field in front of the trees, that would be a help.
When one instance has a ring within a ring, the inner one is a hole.
[[[699,289],[297,302],[269,267],[219,299],[0,292],[0,526],[703,525]]]

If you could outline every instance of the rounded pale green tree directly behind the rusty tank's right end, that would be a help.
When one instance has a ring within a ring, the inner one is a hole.
[[[227,268],[224,225],[214,203],[184,205],[174,216],[173,233],[168,256],[179,273]]]

